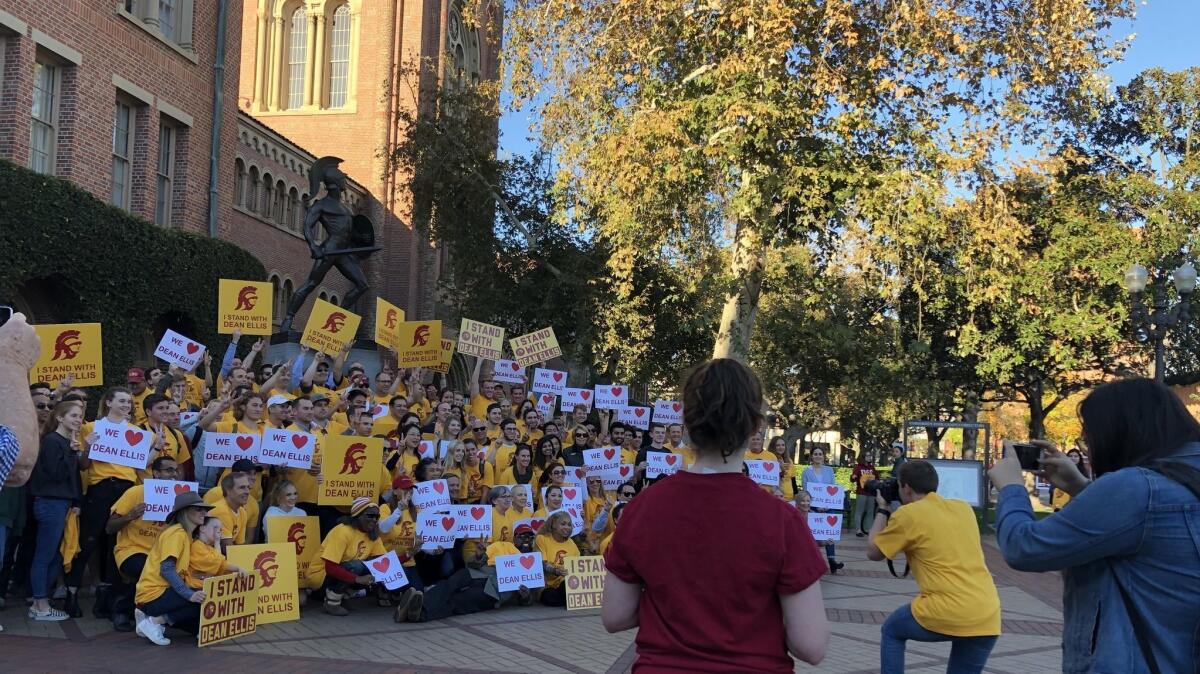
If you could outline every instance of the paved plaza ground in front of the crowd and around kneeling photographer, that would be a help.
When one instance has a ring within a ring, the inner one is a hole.
[[[797,672],[870,674],[878,672],[878,625],[916,592],[911,579],[898,580],[882,564],[865,559],[863,538],[839,546],[846,568],[826,576],[822,591],[833,639],[816,668]],[[1061,583],[1058,574],[1019,573],[1008,568],[989,541],[988,565],[1003,604],[1004,634],[986,672],[1016,674],[1061,669]],[[331,618],[317,607],[304,619],[266,625],[246,637],[205,649],[178,636],[160,648],[133,634],[113,632],[90,618],[32,622],[24,609],[0,612],[0,672],[347,672],[383,673],[624,673],[635,657],[634,633],[607,634],[599,612],[544,607],[509,608],[438,622],[396,625],[390,610],[352,603],[349,618]],[[910,644],[908,672],[944,672],[948,644]]]

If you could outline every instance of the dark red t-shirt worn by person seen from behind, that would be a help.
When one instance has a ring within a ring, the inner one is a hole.
[[[808,522],[740,473],[677,473],[625,510],[605,553],[644,586],[635,672],[792,672],[780,595],[828,571]]]

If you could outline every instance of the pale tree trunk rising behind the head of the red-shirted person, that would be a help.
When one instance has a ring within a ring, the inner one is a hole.
[[[733,254],[730,257],[733,287],[725,295],[721,326],[713,344],[714,359],[749,359],[750,335],[758,313],[766,255],[767,248],[758,228],[739,222],[733,237]]]

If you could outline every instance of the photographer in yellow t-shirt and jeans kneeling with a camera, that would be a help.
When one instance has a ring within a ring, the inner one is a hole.
[[[925,461],[896,468],[894,485],[875,491],[878,510],[866,556],[904,553],[920,594],[883,622],[882,674],[904,672],[905,642],[952,642],[947,674],[983,672],[1000,636],[1000,595],[984,564],[974,512],[965,501],[937,495],[937,471]],[[888,492],[902,504],[889,510]]]

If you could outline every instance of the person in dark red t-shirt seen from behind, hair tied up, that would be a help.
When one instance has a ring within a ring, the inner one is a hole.
[[[758,377],[712,360],[688,377],[683,401],[696,463],[625,506],[605,552],[605,628],[637,628],[636,673],[782,674],[794,668],[788,652],[818,664],[828,566],[804,517],[742,474],[763,422]],[[755,619],[730,620],[728,607]]]

